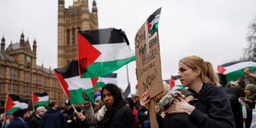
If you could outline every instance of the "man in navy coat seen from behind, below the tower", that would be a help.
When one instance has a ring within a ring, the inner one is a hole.
[[[48,106],[49,109],[41,118],[40,128],[67,128],[67,120],[60,110],[56,110],[56,102],[51,100]]]

